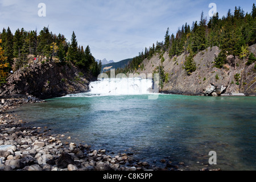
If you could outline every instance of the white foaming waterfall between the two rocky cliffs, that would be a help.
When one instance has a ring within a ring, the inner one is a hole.
[[[65,97],[123,96],[152,93],[152,80],[143,78],[104,78],[91,82],[88,93],[69,94]]]

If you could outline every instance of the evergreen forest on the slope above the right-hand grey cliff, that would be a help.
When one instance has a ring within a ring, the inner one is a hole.
[[[240,56],[245,59],[246,49],[256,43],[256,7],[255,3],[251,13],[245,13],[241,7],[235,7],[234,12],[229,9],[226,16],[219,17],[216,13],[209,20],[201,13],[200,21],[193,22],[192,26],[185,23],[176,32],[169,34],[167,28],[163,42],[156,42],[152,47],[145,48],[134,57],[133,61],[119,72],[127,73],[137,70],[144,59],[150,59],[153,55],[168,52],[170,58],[182,53],[189,53],[185,61],[185,69],[188,75],[196,70],[193,63],[193,55],[208,47],[217,46],[221,53],[214,62],[215,67],[222,68],[226,56]],[[160,56],[160,59],[163,57]],[[236,64],[234,64],[236,67]],[[236,68],[235,68],[236,69]]]

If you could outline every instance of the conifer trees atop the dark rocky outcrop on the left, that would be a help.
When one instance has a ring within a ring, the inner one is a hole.
[[[24,28],[13,34],[8,27],[0,32],[0,81],[3,82],[8,73],[17,70],[28,63],[28,55],[43,57],[53,60],[56,57],[62,65],[73,63],[93,76],[101,72],[101,63],[92,56],[90,47],[85,49],[78,46],[75,32],[72,34],[71,42],[64,35],[53,34],[48,27],[44,27],[39,33],[37,30],[25,31]]]

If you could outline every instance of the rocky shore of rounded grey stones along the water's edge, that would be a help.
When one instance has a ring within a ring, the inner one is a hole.
[[[0,171],[178,171],[188,168],[184,162],[173,164],[166,159],[161,160],[166,167],[160,168],[136,159],[131,152],[95,150],[88,144],[73,143],[69,136],[50,134],[48,127],[28,126],[9,109],[30,102],[43,101],[6,100],[0,106]]]

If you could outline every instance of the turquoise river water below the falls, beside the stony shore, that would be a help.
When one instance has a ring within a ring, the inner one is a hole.
[[[109,152],[133,152],[141,161],[181,169],[256,169],[256,97],[67,97],[23,105],[16,113],[35,126]],[[210,151],[217,165],[210,166]]]

